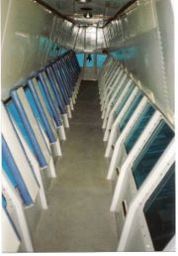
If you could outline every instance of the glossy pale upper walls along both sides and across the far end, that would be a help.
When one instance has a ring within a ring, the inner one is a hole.
[[[32,0],[2,0],[2,97],[57,52],[52,42],[75,51],[106,45],[152,92],[156,105],[174,115],[173,13],[170,0],[144,0],[104,29],[80,28],[49,14]],[[88,32],[88,33],[86,33]],[[106,42],[105,42],[106,40]],[[106,43],[106,45],[105,45]]]

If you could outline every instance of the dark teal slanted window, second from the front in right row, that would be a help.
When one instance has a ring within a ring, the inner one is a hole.
[[[134,161],[133,174],[138,189],[174,137],[174,132],[161,120]]]

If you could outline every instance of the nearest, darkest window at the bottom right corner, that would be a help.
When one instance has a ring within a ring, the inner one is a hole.
[[[175,164],[146,201],[143,212],[156,251],[175,234]]]

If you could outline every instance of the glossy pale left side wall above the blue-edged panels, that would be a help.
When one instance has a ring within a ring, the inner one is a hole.
[[[53,14],[32,0],[2,0],[2,98],[19,80],[53,58],[52,40],[57,43]],[[55,26],[56,27],[56,26]]]

